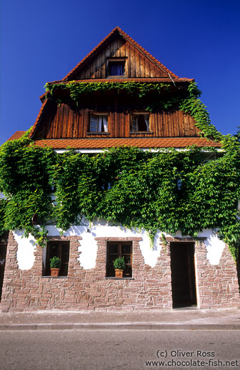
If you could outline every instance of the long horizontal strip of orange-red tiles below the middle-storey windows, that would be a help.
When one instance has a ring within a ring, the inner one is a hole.
[[[36,140],[39,147],[52,147],[53,149],[104,149],[110,147],[121,147],[122,145],[148,148],[184,148],[189,145],[197,147],[221,147],[219,142],[213,142],[201,137],[137,137],[137,138],[93,138],[93,139],[41,139]]]

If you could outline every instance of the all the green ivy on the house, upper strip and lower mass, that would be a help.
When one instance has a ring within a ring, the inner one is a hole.
[[[221,156],[207,161],[197,147],[155,152],[119,147],[95,155],[69,149],[56,154],[49,147],[36,147],[26,133],[0,149],[0,191],[5,196],[0,199],[0,234],[22,228],[26,236],[32,233],[43,245],[49,223],[66,231],[79,225],[83,217],[145,228],[152,240],[157,230],[173,235],[180,230],[195,238],[203,228],[212,228],[219,230],[219,238],[237,257],[240,143],[211,124],[195,83],[174,94],[169,84],[131,82],[72,81],[46,88],[53,99],[59,88],[68,89],[75,102],[96,91],[124,90],[140,99],[151,92],[154,99],[149,110],[171,108],[189,113],[204,137],[221,142]],[[38,226],[33,226],[33,214],[38,215]]]

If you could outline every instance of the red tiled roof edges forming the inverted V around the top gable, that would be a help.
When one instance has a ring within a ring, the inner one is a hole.
[[[145,54],[148,58],[150,58],[150,60],[152,60],[152,63],[155,63],[155,65],[157,65],[163,72],[166,73],[166,75],[171,75],[172,78],[178,78],[177,75],[175,75],[174,73],[172,73],[167,67],[165,67],[165,65],[163,65],[159,60],[157,60],[154,56],[152,56],[150,53],[148,53],[144,48],[142,48],[142,46],[140,46],[139,43],[136,43],[135,40],[133,40],[133,38],[131,38],[130,36],[127,35],[127,33],[125,33],[124,31],[121,30],[121,28],[119,28],[118,26],[113,28],[113,31],[111,31],[108,36],[106,36],[105,38],[103,38],[103,41],[101,41],[100,43],[98,43],[98,45],[92,50],[90,51],[90,53],[85,56],[85,58],[83,58],[83,60],[80,61],[80,63],[78,63],[78,65],[75,66],[75,68],[73,68],[73,70],[71,70],[66,76],[65,78],[63,78],[63,80],[70,80],[72,75],[76,72],[76,70],[78,70],[78,68],[80,68],[81,65],[83,65],[83,63],[88,60],[88,58],[90,58],[91,56],[93,56],[93,54],[98,51],[98,49],[103,45],[103,43],[105,43],[105,41],[108,40],[108,38],[110,38],[110,36],[113,35],[113,33],[119,33],[123,38],[125,38],[125,40],[127,40],[129,43],[131,43],[133,46],[135,46],[141,53]]]

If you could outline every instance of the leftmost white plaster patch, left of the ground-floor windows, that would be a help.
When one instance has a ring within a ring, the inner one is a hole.
[[[24,238],[24,231],[16,230],[14,231],[14,238],[18,243],[18,250],[16,253],[16,260],[19,265],[20,270],[29,270],[33,267],[35,260],[34,251],[36,250],[36,240],[33,236],[28,236]]]

